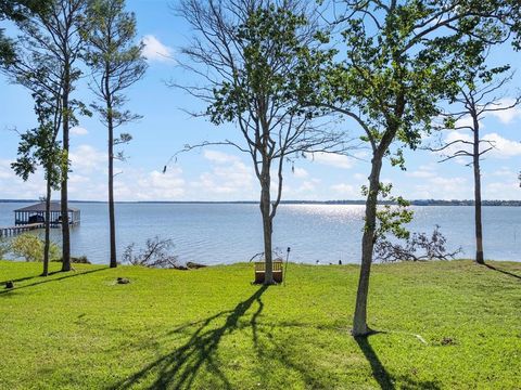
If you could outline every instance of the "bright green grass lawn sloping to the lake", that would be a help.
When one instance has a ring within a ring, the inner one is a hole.
[[[521,389],[521,263],[491,264],[374,265],[380,333],[355,340],[354,265],[290,264],[266,288],[252,264],[3,261],[0,389]]]

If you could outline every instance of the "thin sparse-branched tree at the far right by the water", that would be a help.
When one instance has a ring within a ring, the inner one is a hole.
[[[452,113],[442,113],[444,128],[457,131],[457,139],[452,136],[448,142],[437,147],[430,147],[431,151],[444,156],[442,161],[452,159],[470,158],[468,166],[473,168],[474,177],[474,230],[475,230],[475,262],[484,264],[483,255],[483,223],[481,210],[481,159],[491,152],[495,142],[481,138],[481,120],[491,113],[503,112],[516,107],[521,98],[504,104],[498,93],[511,79],[511,76],[504,76],[509,66],[487,69],[484,65],[469,68],[467,75],[458,84],[458,94],[450,99]],[[467,122],[467,120],[469,120]],[[442,128],[443,129],[443,128]],[[471,135],[466,136],[461,131],[470,131]],[[482,145],[485,145],[482,147]]]

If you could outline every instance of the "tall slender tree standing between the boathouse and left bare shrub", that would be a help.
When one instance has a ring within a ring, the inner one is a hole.
[[[126,90],[147,70],[142,44],[136,43],[136,16],[125,11],[125,0],[92,0],[88,9],[87,62],[93,69],[91,89],[103,103],[92,106],[109,131],[109,220],[111,232],[111,268],[117,266],[116,222],[114,211],[114,145],[130,141],[130,135],[114,138],[114,130],[140,118],[123,106]]]

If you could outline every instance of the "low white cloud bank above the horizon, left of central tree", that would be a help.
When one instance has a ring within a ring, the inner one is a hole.
[[[231,196],[252,199],[252,195],[257,194],[252,169],[238,156],[208,151],[205,157],[212,164],[211,169],[192,181],[183,178],[178,166],[163,173],[120,165],[117,171],[123,174],[115,179],[115,197],[117,200],[228,200]],[[92,145],[82,144],[69,153],[69,198],[106,200],[106,154]],[[0,160],[0,198],[37,198],[45,193],[40,170],[23,182],[14,174],[10,164],[10,160]]]

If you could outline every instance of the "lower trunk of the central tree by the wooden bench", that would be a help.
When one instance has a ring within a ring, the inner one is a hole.
[[[263,232],[264,232],[264,259],[265,273],[264,284],[272,285],[274,282],[274,262],[272,262],[272,223],[270,218],[271,198],[270,198],[271,178],[269,172],[269,164],[263,164],[263,171],[260,178],[260,213],[263,216]]]

